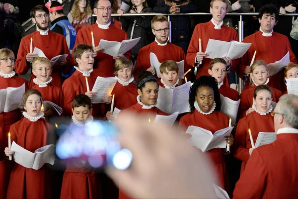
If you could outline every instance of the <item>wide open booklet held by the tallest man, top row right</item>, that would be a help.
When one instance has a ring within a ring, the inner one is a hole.
[[[207,58],[210,59],[229,57],[231,60],[234,60],[242,57],[250,46],[251,43],[209,39],[205,53],[208,54]]]

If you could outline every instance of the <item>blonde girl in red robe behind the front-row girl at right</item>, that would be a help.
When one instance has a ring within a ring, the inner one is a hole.
[[[265,62],[254,62],[250,70],[249,83],[251,88],[246,89],[240,95],[240,105],[238,111],[239,119],[254,111],[251,107],[253,103],[253,93],[256,87],[259,85],[267,85],[269,82],[269,71]],[[278,102],[279,98],[282,96],[282,92],[273,87],[270,87],[270,89],[273,92],[272,101]]]

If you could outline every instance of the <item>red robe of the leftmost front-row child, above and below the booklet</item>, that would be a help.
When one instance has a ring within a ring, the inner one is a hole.
[[[47,137],[53,127],[43,118],[32,122],[23,117],[10,126],[11,143],[14,141],[24,149],[34,151],[47,145]],[[11,170],[7,199],[50,199],[49,171],[44,165],[39,170],[25,168],[15,162]]]

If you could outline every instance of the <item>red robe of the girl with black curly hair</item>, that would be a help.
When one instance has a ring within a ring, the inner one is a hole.
[[[182,116],[179,122],[179,126],[183,127],[185,130],[191,125],[198,126],[215,133],[217,130],[228,127],[228,116],[217,110],[214,110],[208,115],[204,115],[199,111],[194,110],[193,112],[189,112]],[[209,156],[213,167],[215,168],[220,183],[219,186],[228,191],[229,183],[223,149],[214,148],[205,153]]]

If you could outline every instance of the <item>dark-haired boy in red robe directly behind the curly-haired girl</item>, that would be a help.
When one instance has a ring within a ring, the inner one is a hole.
[[[215,58],[210,62],[208,69],[209,75],[214,77],[218,82],[220,94],[231,100],[238,101],[239,94],[236,90],[224,85],[224,77],[226,76],[226,61],[223,58]]]

